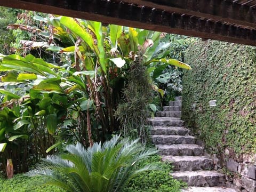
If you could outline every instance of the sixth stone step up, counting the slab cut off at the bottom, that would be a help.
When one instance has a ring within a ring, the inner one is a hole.
[[[151,135],[186,135],[189,130],[185,127],[155,126],[150,130]]]

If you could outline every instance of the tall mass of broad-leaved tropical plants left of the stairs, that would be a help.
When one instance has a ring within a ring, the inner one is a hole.
[[[28,18],[31,21],[31,15]],[[7,143],[0,158],[3,166],[5,159],[12,158],[15,172],[27,171],[56,147],[62,150],[62,143],[80,142],[88,147],[120,132],[127,113],[118,116],[116,111],[120,103],[132,103],[125,89],[131,89],[130,84],[136,81],[131,75],[134,66],[140,66],[142,70],[137,73],[144,77],[169,65],[190,68],[165,59],[165,54],[156,54],[161,39],[158,32],[106,27],[100,22],[54,15],[35,15],[34,20],[35,26],[18,23],[9,29],[33,34],[34,39],[22,42],[22,49],[34,50],[39,58],[26,51],[23,57],[13,54],[0,58],[4,73],[0,79],[0,143]],[[46,55],[39,54],[42,52]],[[134,94],[145,98],[140,92],[138,89]],[[143,114],[132,117],[138,117],[134,122],[140,124],[133,124],[127,133],[136,130],[135,135],[145,141],[143,125],[149,107],[155,108],[149,105],[150,98],[141,103],[142,108],[134,110]],[[123,111],[129,111],[130,106]]]

